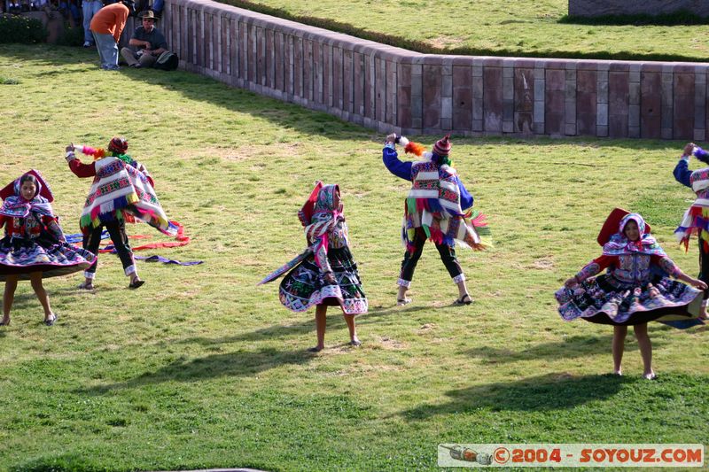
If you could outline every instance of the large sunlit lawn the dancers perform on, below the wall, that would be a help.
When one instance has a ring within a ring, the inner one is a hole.
[[[103,72],[82,49],[0,46],[0,83],[0,185],[40,169],[77,232],[90,182],[64,147],[125,135],[192,237],[148,253],[205,261],[138,262],[134,292],[102,255],[93,294],[75,290],[80,275],[46,281],[53,328],[20,283],[0,329],[0,470],[435,470],[439,443],[709,440],[704,329],[652,324],[659,380],[640,378],[632,336],[612,377],[612,330],[561,321],[553,298],[599,254],[616,205],[696,273],[697,248],[672,236],[690,201],[672,177],[684,143],[454,136],[495,247],[459,251],[474,305],[451,306],[428,247],[414,302],[396,307],[408,185],[382,165],[383,135],[194,74]],[[296,212],[316,179],[341,186],[370,313],[351,348],[332,310],[327,348],[310,354],[313,312],[256,282],[303,248]]]

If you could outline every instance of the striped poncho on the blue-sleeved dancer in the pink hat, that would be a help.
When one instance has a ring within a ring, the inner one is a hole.
[[[488,234],[485,215],[478,211],[464,213],[460,206],[460,190],[456,169],[438,166],[432,161],[411,166],[411,190],[406,199],[402,242],[413,251],[416,228],[436,244],[455,247],[456,242],[479,251],[486,249],[480,234]]]

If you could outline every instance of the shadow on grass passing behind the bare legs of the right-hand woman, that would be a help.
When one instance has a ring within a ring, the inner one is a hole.
[[[667,327],[667,329],[671,329]],[[625,352],[638,350],[637,342],[630,329],[626,340]],[[464,353],[477,359],[484,360],[487,364],[503,364],[518,362],[519,360],[538,359],[575,359],[580,357],[594,356],[597,354],[611,355],[612,335],[608,336],[574,336],[568,337],[564,341],[535,344],[522,351],[513,349],[494,349],[490,347],[480,347],[465,351]],[[653,347],[665,344],[661,339],[652,340]]]

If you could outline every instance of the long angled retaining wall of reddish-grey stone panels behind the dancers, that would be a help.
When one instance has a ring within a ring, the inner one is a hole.
[[[167,0],[181,66],[388,133],[703,141],[709,64],[419,54],[210,0]]]

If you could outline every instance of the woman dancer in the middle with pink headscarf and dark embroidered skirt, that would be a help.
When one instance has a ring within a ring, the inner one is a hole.
[[[294,312],[304,312],[316,306],[317,345],[310,348],[310,352],[319,352],[325,347],[328,306],[342,308],[349,330],[349,344],[362,344],[357,337],[354,316],[367,313],[367,297],[349,250],[343,208],[339,186],[317,182],[298,212],[300,223],[305,227],[308,248],[260,282],[271,282],[290,270],[278,290],[281,303]]]

